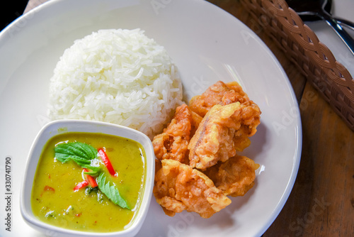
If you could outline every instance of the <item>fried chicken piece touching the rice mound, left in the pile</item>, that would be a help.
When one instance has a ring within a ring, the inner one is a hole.
[[[186,104],[178,106],[164,132],[152,140],[156,158],[173,159],[188,164],[188,143],[201,119],[198,114],[190,111]]]

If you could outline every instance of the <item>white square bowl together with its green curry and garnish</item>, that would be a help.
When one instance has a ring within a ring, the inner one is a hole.
[[[154,159],[151,140],[135,129],[47,123],[28,154],[23,219],[49,236],[135,236],[152,198]]]

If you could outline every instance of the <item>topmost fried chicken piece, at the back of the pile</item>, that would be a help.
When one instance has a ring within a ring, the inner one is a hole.
[[[188,106],[192,111],[204,117],[215,104],[227,105],[235,102],[253,104],[237,82],[216,82],[201,95],[190,99]]]

